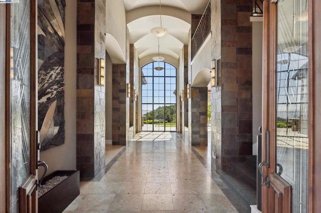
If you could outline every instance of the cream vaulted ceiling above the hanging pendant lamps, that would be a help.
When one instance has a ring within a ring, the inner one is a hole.
[[[190,14],[202,14],[209,0],[161,0],[162,10],[165,8],[177,8]],[[129,29],[130,43],[135,44],[138,57],[157,54],[157,36],[150,29],[161,25],[159,15],[159,0],[124,0],[126,11],[138,9],[150,9],[153,6],[157,14],[139,17],[127,24]],[[150,10],[151,11],[151,10]],[[179,10],[178,10],[179,11]],[[176,14],[164,15],[162,11],[162,25],[168,29],[168,33],[159,39],[159,55],[167,54],[179,58],[184,44],[189,41],[191,24],[182,20]]]

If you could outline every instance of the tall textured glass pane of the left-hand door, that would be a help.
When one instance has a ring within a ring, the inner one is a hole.
[[[30,174],[30,0],[11,4],[10,150],[11,212]]]

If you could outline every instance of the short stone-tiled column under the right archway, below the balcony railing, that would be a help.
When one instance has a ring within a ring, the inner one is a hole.
[[[207,145],[207,87],[191,88],[192,145]]]

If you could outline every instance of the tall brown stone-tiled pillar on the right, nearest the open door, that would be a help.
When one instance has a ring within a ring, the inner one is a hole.
[[[212,0],[212,151],[217,169],[231,169],[252,154],[252,1]]]

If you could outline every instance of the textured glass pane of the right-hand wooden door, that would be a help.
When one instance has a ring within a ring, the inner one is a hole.
[[[308,212],[307,8],[307,0],[277,4],[277,163],[292,185],[292,212]]]

